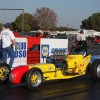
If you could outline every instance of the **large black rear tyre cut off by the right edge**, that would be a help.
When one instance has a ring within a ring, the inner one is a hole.
[[[93,80],[100,81],[100,60],[93,61],[90,66],[90,75]]]

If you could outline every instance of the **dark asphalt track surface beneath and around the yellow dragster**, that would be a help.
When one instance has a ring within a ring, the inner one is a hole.
[[[72,42],[69,42],[69,48]],[[100,51],[100,45],[88,43],[89,50]],[[26,84],[12,85],[0,82],[0,100],[100,100],[100,82],[90,75],[68,80],[43,83],[37,90]]]

